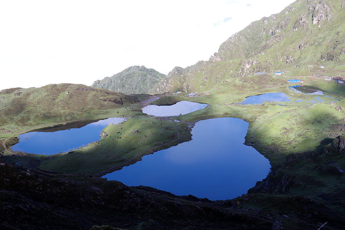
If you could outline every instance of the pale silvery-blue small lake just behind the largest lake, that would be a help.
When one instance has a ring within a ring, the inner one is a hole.
[[[179,101],[171,106],[148,105],[142,108],[142,112],[156,117],[178,116],[197,111],[207,107],[208,104],[201,104],[191,101]]]

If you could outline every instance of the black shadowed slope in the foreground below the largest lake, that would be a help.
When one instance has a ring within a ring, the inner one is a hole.
[[[0,229],[343,229],[345,217],[303,196],[248,194],[210,201],[87,174],[0,160]]]

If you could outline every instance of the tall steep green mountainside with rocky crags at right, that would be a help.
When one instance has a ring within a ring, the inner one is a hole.
[[[344,78],[344,10],[343,0],[297,0],[282,12],[249,24],[197,69],[160,82],[154,92],[206,92],[226,79],[278,70],[287,77]]]

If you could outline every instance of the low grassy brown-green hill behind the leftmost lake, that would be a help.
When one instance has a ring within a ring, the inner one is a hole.
[[[107,117],[109,111],[138,100],[119,92],[82,84],[49,84],[41,88],[0,91],[0,137],[68,121]]]

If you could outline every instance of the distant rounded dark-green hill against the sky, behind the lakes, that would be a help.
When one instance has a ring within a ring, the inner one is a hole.
[[[164,77],[154,69],[145,66],[131,66],[112,77],[93,82],[91,87],[108,89],[126,94],[148,93]]]

